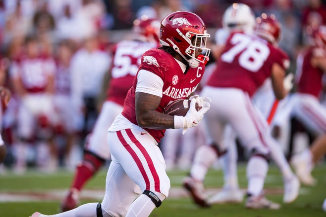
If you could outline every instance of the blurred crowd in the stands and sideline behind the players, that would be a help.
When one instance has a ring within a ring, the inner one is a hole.
[[[214,43],[223,12],[233,2],[0,0],[0,84],[12,91],[2,117],[5,165],[18,173],[29,165],[44,171],[74,167],[104,100],[102,83],[113,44],[129,37],[134,19],[146,15],[161,20],[172,11],[192,11],[203,18]],[[249,5],[255,15],[276,15],[283,27],[280,47],[291,58],[292,72],[309,28],[326,23],[325,0],[237,2]],[[188,168],[193,150],[168,144],[172,152],[185,154],[180,167]],[[175,155],[166,161],[172,168]]]

